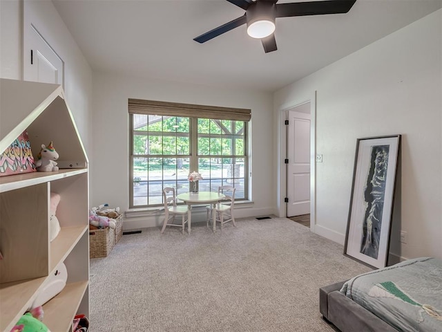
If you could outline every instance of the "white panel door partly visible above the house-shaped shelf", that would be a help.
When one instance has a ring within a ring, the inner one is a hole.
[[[63,85],[64,62],[32,24],[25,29],[23,50],[25,81]]]

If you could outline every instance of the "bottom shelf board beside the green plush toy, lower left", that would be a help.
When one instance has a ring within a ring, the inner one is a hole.
[[[66,284],[61,293],[44,304],[43,322],[50,331],[69,331],[87,288],[87,281]]]

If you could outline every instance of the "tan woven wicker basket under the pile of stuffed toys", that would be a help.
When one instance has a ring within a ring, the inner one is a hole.
[[[115,244],[121,239],[123,234],[123,215],[120,214],[115,219],[114,228],[103,228],[101,230],[89,231],[89,257],[107,257]]]

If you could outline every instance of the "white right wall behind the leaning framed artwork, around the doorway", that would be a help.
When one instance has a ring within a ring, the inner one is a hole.
[[[345,241],[356,138],[400,133],[401,205],[391,252],[442,257],[441,17],[434,12],[274,94],[276,119],[317,91],[316,153],[324,160],[316,164],[318,234]],[[398,243],[399,230],[406,244]]]

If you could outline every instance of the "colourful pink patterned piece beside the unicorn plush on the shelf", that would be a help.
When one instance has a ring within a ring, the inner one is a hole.
[[[28,133],[23,131],[12,144],[0,154],[0,176],[37,172],[30,149]]]

